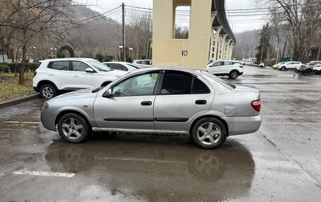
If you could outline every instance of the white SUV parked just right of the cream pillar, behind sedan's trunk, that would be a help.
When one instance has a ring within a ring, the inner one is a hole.
[[[231,79],[243,75],[243,65],[238,61],[215,61],[206,65],[206,70],[213,75],[229,76]]]

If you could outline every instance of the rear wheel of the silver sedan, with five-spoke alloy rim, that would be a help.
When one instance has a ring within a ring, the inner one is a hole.
[[[191,139],[202,149],[215,149],[221,146],[227,138],[227,129],[217,118],[202,118],[192,130]]]

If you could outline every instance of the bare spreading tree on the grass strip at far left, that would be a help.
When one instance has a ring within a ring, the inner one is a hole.
[[[64,38],[68,30],[77,27],[80,23],[73,20],[73,6],[71,0],[3,0],[0,6],[8,8],[1,15],[0,28],[7,29],[8,33],[15,34],[22,49],[22,61],[19,71],[19,84],[24,84],[27,43],[35,37],[46,35],[53,38]]]

